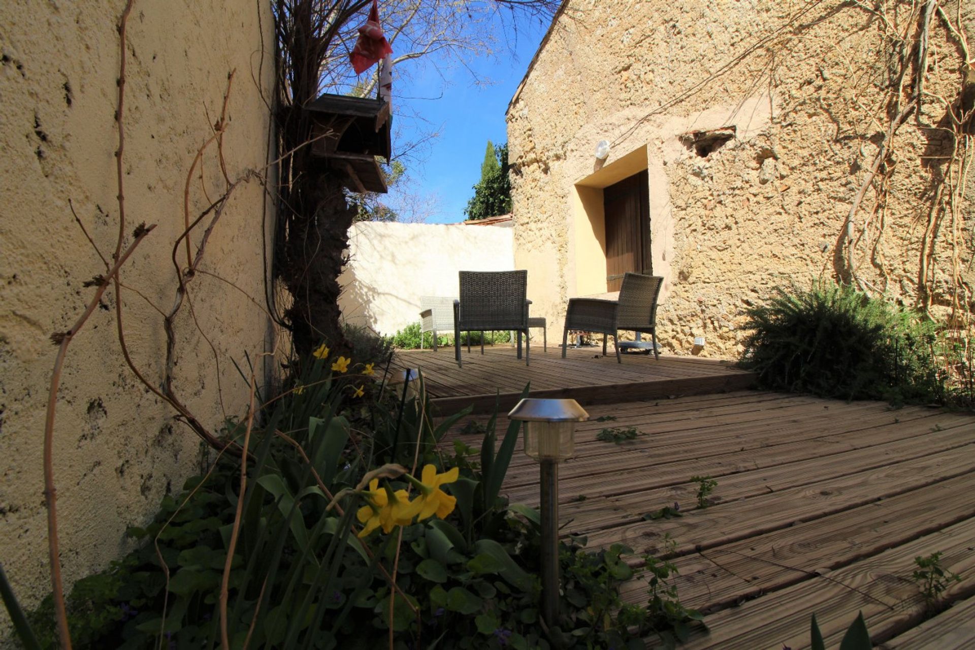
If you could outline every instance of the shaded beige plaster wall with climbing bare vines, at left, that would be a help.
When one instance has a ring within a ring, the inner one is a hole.
[[[75,321],[93,293],[82,284],[104,272],[68,201],[105,255],[118,230],[116,24],[124,7],[124,0],[0,3],[0,559],[27,607],[50,591],[42,439],[57,348],[49,337]],[[227,172],[236,178],[267,162],[261,95],[270,94],[273,70],[261,41],[273,48],[272,20],[267,3],[251,0],[137,0],[128,36],[126,244],[138,222],[158,227],[122,274],[144,298],[125,290],[122,299],[134,361],[160,382],[165,334],[147,301],[164,311],[174,303],[183,185],[232,69]],[[213,153],[202,178],[200,169],[189,190],[194,216],[223,184]],[[176,392],[214,431],[247,405],[230,358],[247,367],[249,352],[259,364],[267,344],[267,320],[243,292],[261,301],[261,242],[272,219],[259,184],[242,186],[201,266],[240,290],[201,274],[190,286],[192,313],[184,308],[176,318]],[[197,230],[194,250],[199,241]],[[55,470],[68,587],[129,550],[126,527],[144,523],[199,469],[198,439],[124,364],[114,308],[109,289],[68,349],[59,392]],[[6,617],[3,610],[0,631]]]

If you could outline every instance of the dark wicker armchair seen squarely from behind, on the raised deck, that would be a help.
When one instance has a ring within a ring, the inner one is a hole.
[[[525,364],[528,364],[527,271],[461,271],[460,299],[453,301],[453,346],[460,363],[460,332],[503,331],[525,336]],[[467,337],[470,351],[470,335]],[[484,354],[484,336],[481,337]],[[521,347],[519,347],[521,359]]]

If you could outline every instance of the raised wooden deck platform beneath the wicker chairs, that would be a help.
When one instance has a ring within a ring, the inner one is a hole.
[[[426,390],[441,412],[456,412],[472,405],[475,413],[494,410],[500,403],[509,409],[517,403],[526,384],[531,397],[571,398],[581,404],[648,400],[671,396],[702,395],[740,390],[755,382],[751,372],[728,362],[695,357],[661,357],[629,354],[616,363],[611,352],[602,356],[601,347],[569,348],[565,359],[553,345],[531,347],[531,364],[517,359],[512,346],[463,349],[462,367],[457,367],[452,347],[401,351],[396,369],[418,367]]]

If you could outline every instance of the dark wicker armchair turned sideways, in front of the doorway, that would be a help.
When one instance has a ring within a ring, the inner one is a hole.
[[[619,330],[639,331],[649,334],[653,339],[653,355],[659,360],[657,352],[657,296],[663,278],[627,273],[623,286],[619,289],[619,300],[599,298],[571,298],[565,312],[565,331],[562,335],[562,358],[568,345],[568,331],[600,332],[603,334],[603,354],[606,354],[606,336],[612,335],[616,347],[616,361],[623,363],[619,356]]]

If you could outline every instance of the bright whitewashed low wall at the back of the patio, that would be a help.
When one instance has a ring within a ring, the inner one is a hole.
[[[513,229],[364,221],[349,231],[338,306],[349,325],[381,334],[419,321],[420,296],[456,297],[458,271],[515,268]]]

